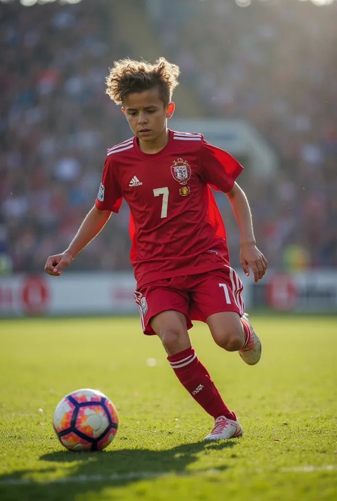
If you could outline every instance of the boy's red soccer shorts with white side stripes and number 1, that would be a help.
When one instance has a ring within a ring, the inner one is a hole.
[[[187,317],[187,327],[192,320],[206,322],[207,317],[219,312],[244,314],[241,297],[243,285],[238,274],[229,266],[198,275],[185,275],[156,280],[135,291],[144,334],[155,334],[150,319],[165,310],[176,310]]]

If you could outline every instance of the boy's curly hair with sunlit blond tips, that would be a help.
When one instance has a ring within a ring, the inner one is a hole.
[[[106,77],[106,94],[116,104],[123,104],[130,92],[142,92],[157,87],[164,106],[170,103],[172,93],[179,85],[179,67],[165,58],[157,59],[154,64],[148,61],[120,59]]]

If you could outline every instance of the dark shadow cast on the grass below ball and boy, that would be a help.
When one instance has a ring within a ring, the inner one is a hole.
[[[40,460],[55,462],[55,466],[0,475],[0,498],[2,501],[73,501],[79,494],[91,492],[93,498],[98,500],[99,492],[109,485],[123,486],[165,473],[193,474],[193,470],[187,467],[198,459],[199,452],[232,448],[236,443],[237,439],[214,443],[195,442],[166,450],[139,448],[91,453],[51,452],[42,455]],[[44,475],[41,477],[43,483],[30,480],[33,473],[50,473],[50,477],[53,477],[63,462],[74,463],[67,470],[69,476],[48,481]],[[219,472],[226,469],[226,465],[214,468]],[[201,474],[205,470],[195,472]],[[26,479],[29,481],[25,484]]]

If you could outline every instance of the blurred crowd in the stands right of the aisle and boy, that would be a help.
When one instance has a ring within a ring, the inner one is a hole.
[[[205,115],[249,120],[280,158],[276,178],[243,186],[270,264],[337,266],[337,2],[240,1],[144,0]]]

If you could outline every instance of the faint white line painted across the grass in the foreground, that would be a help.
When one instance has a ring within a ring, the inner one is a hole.
[[[292,466],[289,468],[281,468],[277,473],[310,473],[312,471],[332,471],[337,469],[337,464],[326,464],[323,466],[307,465],[307,466]],[[266,470],[252,470],[256,473],[261,473]],[[245,470],[246,473],[249,470]],[[46,480],[33,480],[32,478],[7,478],[6,480],[0,480],[0,486],[2,485],[32,485],[32,484],[44,484],[44,483],[84,483],[84,482],[102,482],[102,481],[118,481],[118,480],[132,480],[132,479],[148,479],[157,478],[160,476],[168,475],[178,475],[178,476],[188,476],[188,475],[214,475],[220,474],[222,470],[215,468],[207,470],[191,470],[191,471],[130,471],[129,473],[112,473],[111,475],[74,475],[67,476],[63,478],[48,478]]]

